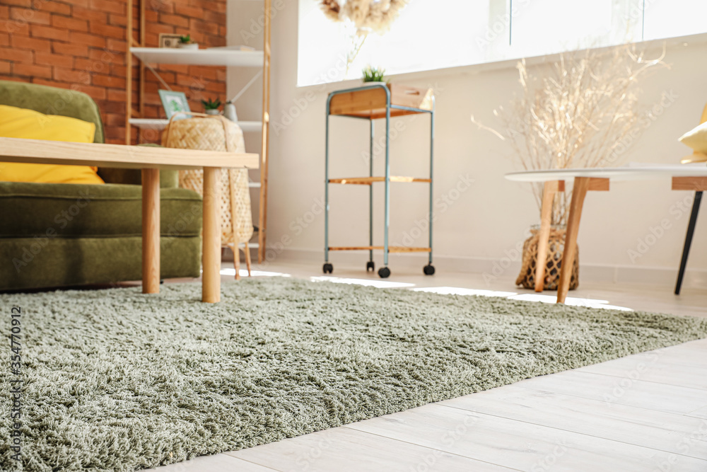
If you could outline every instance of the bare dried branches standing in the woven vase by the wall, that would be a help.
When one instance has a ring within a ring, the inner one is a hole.
[[[518,62],[522,96],[494,110],[505,133],[485,127],[515,151],[527,171],[615,165],[626,138],[640,127],[638,81],[662,62],[647,60],[633,45],[560,54],[547,74],[533,77]],[[538,207],[542,184],[534,185]],[[566,224],[569,193],[558,195],[552,224]]]

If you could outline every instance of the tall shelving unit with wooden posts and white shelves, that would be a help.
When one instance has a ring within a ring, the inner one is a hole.
[[[263,50],[244,51],[229,49],[228,47],[214,47],[210,49],[172,49],[165,47],[145,47],[145,23],[146,23],[146,3],[147,0],[127,0],[127,42],[129,54],[127,54],[127,80],[126,91],[126,144],[132,143],[132,127],[138,129],[165,129],[168,120],[158,120],[144,118],[144,84],[146,69],[151,69],[158,79],[166,84],[159,77],[152,64],[188,64],[195,66],[226,66],[226,67],[257,67],[262,68],[262,121],[239,121],[238,125],[243,132],[248,134],[260,133],[260,181],[248,183],[250,188],[259,188],[259,217],[258,231],[254,236],[257,243],[250,243],[250,247],[258,248],[258,261],[262,263],[265,257],[265,235],[267,229],[267,173],[268,173],[268,137],[269,137],[269,108],[270,108],[270,15],[271,0],[262,1],[264,6],[264,28],[263,28]],[[139,41],[134,39],[133,4],[139,6]],[[139,61],[139,110],[135,110],[132,105],[132,64],[133,58]],[[255,81],[255,78],[254,78]],[[250,83],[248,84],[250,85]]]

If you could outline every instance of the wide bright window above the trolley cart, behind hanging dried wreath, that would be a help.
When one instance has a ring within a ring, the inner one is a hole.
[[[410,0],[385,35],[299,1],[298,86],[707,32],[707,0]]]

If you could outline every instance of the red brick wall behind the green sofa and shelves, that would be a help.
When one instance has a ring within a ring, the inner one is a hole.
[[[144,0],[145,41],[158,46],[159,33],[192,36],[200,47],[226,45],[226,0]],[[137,0],[134,0],[136,4]],[[134,38],[139,39],[139,9],[133,8]],[[88,93],[103,115],[106,141],[125,139],[127,0],[0,0],[0,79]],[[139,109],[134,57],[133,96]],[[226,68],[156,67],[175,91],[189,98],[192,111],[203,111],[201,98],[226,98]],[[165,117],[158,96],[163,86],[146,71],[144,117]],[[133,128],[136,142],[136,128]],[[140,142],[156,142],[144,132]]]

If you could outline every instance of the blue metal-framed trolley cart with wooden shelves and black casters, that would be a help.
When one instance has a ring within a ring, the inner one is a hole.
[[[390,118],[414,113],[428,113],[430,115],[430,177],[414,178],[400,175],[390,175]],[[329,178],[329,117],[332,115],[363,118],[370,121],[370,171],[368,177],[355,178]],[[373,137],[374,121],[385,118],[385,176],[373,175]],[[329,263],[329,251],[368,251],[366,272],[375,271],[373,251],[383,251],[383,267],[378,269],[382,278],[390,276],[388,255],[390,253],[429,253],[428,264],[423,268],[425,275],[433,275],[435,267],[432,265],[432,176],[433,176],[433,147],[435,134],[435,98],[432,89],[387,85],[382,83],[368,84],[357,88],[335,91],[329,93],[327,99],[327,137],[325,151],[325,224],[324,224],[324,273],[331,274],[334,266]],[[373,183],[385,183],[385,236],[383,246],[373,246]],[[390,226],[390,183],[391,182],[421,182],[428,183],[430,190],[429,199],[429,245],[424,248],[411,248],[407,246],[389,246],[388,229]],[[368,185],[368,246],[336,247],[329,246],[329,185],[330,184]]]

